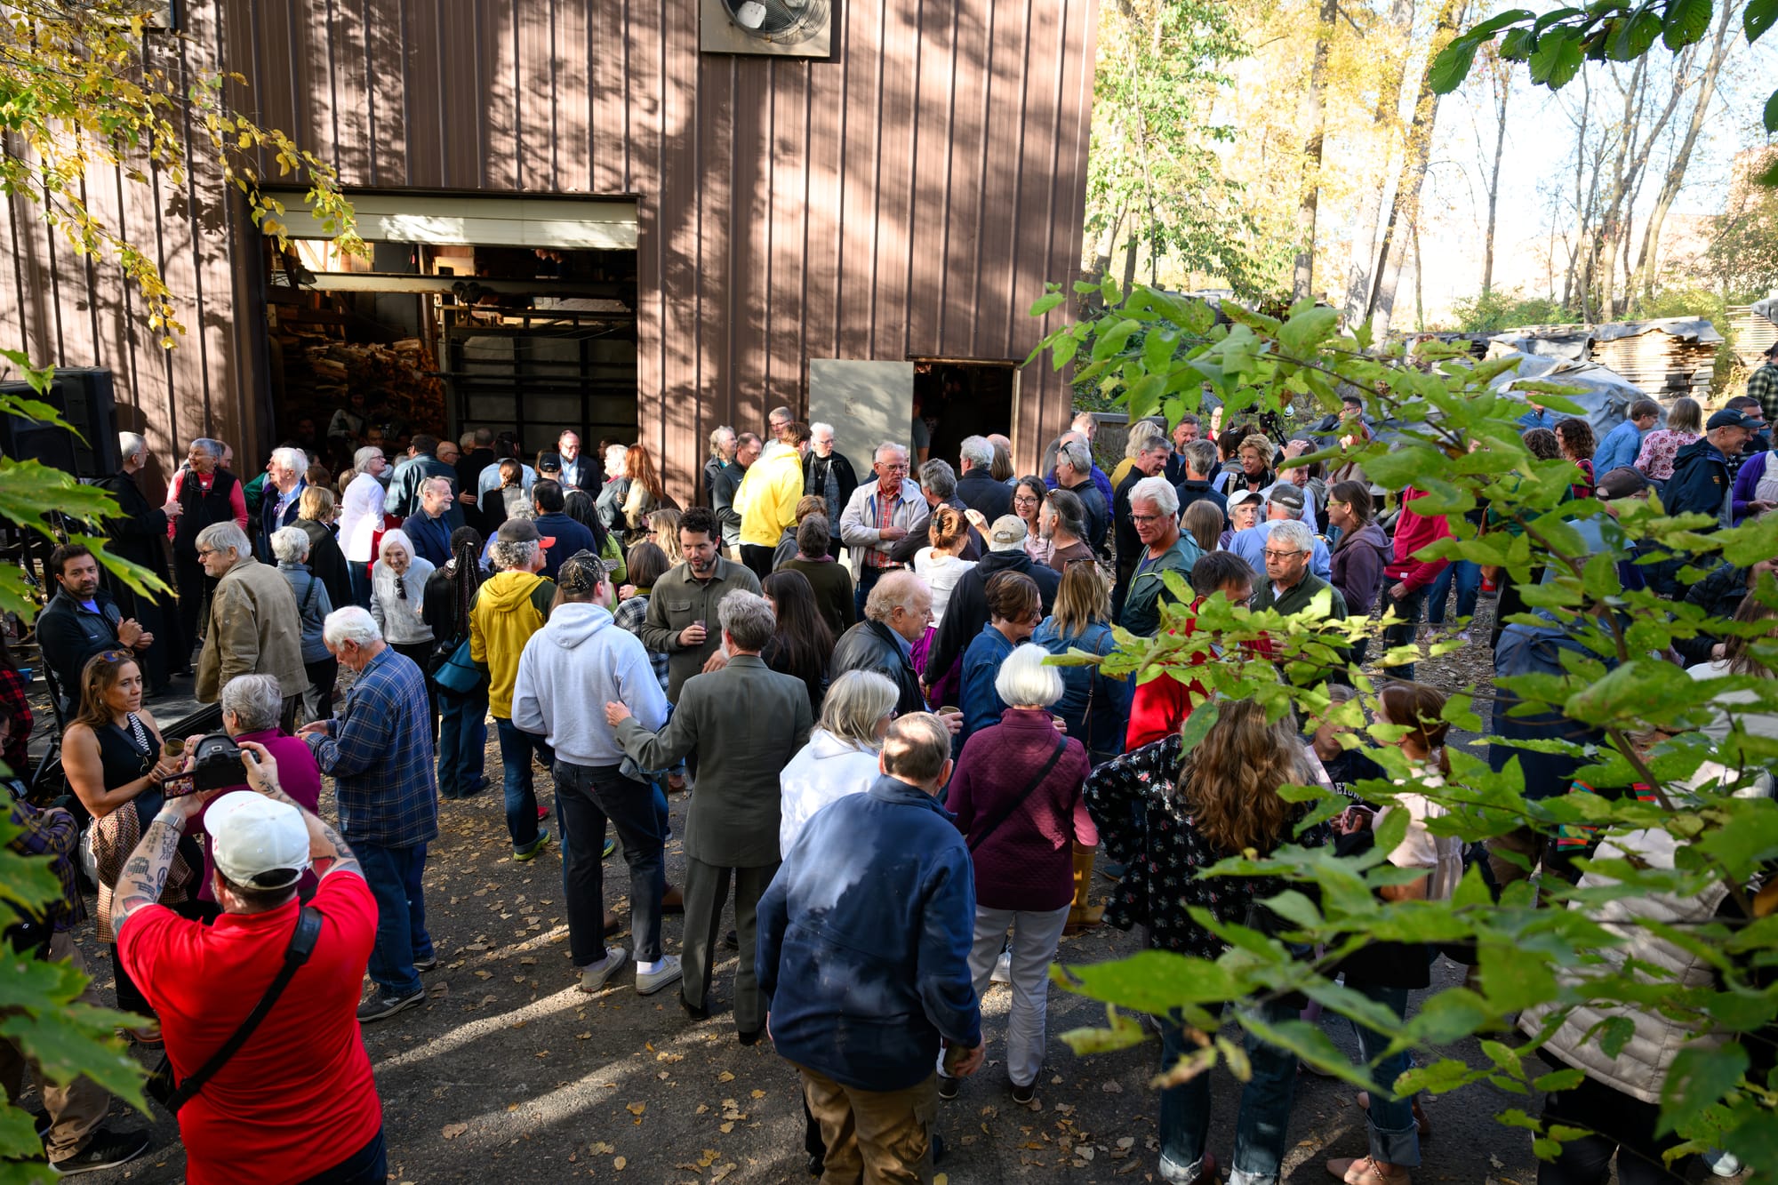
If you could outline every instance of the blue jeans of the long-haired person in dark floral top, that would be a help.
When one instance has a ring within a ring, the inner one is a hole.
[[[1298,1011],[1271,1002],[1257,1007],[1269,1025],[1296,1020]],[[1253,1076],[1241,1089],[1241,1112],[1234,1125],[1234,1162],[1229,1185],[1277,1185],[1284,1164],[1285,1126],[1291,1121],[1291,1098],[1296,1092],[1296,1055],[1269,1046],[1246,1034],[1246,1057]],[[1186,1041],[1184,1030],[1161,1018],[1161,1069],[1173,1064],[1197,1046]],[[1182,1085],[1161,1091],[1161,1180],[1197,1181],[1204,1171],[1204,1151],[1211,1126],[1211,1076],[1198,1075]]]

